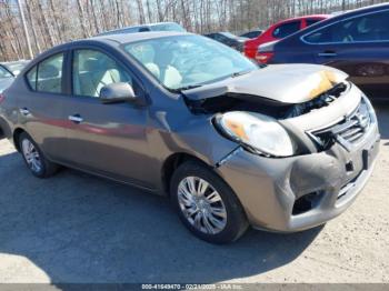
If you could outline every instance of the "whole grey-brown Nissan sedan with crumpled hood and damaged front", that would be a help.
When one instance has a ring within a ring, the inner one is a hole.
[[[357,198],[379,147],[375,111],[347,74],[258,67],[178,32],[103,36],[33,60],[0,98],[0,127],[31,172],[59,164],[167,193],[216,243],[300,231]]]

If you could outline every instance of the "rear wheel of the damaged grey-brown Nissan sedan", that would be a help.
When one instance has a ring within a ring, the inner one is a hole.
[[[31,173],[38,178],[49,178],[53,175],[59,167],[50,162],[39,149],[38,144],[26,132],[19,136],[19,149]]]

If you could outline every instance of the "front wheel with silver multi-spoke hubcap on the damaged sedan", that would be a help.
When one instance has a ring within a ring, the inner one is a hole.
[[[196,194],[189,195],[191,192]],[[174,171],[170,199],[183,224],[201,240],[217,244],[232,242],[249,225],[232,189],[200,162],[184,162]]]

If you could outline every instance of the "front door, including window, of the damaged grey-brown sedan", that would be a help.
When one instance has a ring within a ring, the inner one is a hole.
[[[72,51],[72,96],[64,104],[69,119],[68,161],[74,167],[120,181],[152,188],[147,124],[148,107],[103,104],[103,86],[129,82],[137,96],[144,91],[137,78],[112,56],[96,48]]]

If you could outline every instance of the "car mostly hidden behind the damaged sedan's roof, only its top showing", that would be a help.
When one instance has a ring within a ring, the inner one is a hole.
[[[110,31],[106,31],[99,33],[98,36],[109,36],[109,34],[118,34],[118,33],[134,33],[134,32],[147,32],[147,31],[177,31],[177,32],[186,32],[186,29],[176,22],[157,22],[149,23],[142,26],[127,27],[114,29]]]

